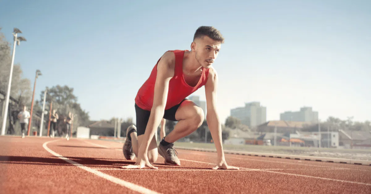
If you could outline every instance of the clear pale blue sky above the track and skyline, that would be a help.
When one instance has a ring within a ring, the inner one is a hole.
[[[244,102],[267,120],[312,106],[320,119],[371,120],[371,1],[8,1],[0,26],[27,42],[15,63],[36,98],[68,85],[91,119],[135,119],[134,98],[167,50],[190,49],[197,27],[225,37],[213,64],[220,118]],[[204,87],[195,95],[205,100]],[[39,99],[40,100],[40,99]]]

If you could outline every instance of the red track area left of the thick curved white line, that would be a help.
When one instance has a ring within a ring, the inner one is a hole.
[[[0,137],[3,193],[122,193],[122,186],[60,160],[42,144],[50,138]],[[119,192],[121,190],[121,192]],[[136,193],[131,190],[125,193]]]

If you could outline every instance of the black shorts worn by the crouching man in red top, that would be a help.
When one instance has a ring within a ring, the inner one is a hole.
[[[177,121],[175,119],[175,113],[177,112],[180,104],[187,99],[184,99],[179,104],[165,110],[164,116],[162,118],[170,121]],[[145,128],[147,128],[148,120],[150,119],[151,111],[146,111],[141,108],[137,104],[135,104],[135,115],[137,117],[137,135],[143,135],[145,132]]]

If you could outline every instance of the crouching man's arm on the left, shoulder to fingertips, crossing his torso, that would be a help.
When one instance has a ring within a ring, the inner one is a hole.
[[[144,132],[142,144],[139,145],[138,158],[135,166],[127,166],[127,168],[142,168],[144,166],[153,167],[148,162],[148,147],[152,137],[155,135],[158,125],[161,122],[165,112],[167,94],[169,89],[170,79],[174,76],[175,70],[175,55],[173,52],[166,52],[162,55],[157,64],[157,76],[154,86],[153,105],[148,119],[147,127]]]

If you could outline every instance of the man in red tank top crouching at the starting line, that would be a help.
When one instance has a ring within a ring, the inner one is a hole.
[[[137,156],[137,161],[134,165],[122,168],[157,169],[152,164],[158,154],[165,158],[165,164],[180,165],[174,142],[196,131],[204,120],[203,110],[185,98],[205,86],[206,120],[217,149],[217,161],[213,169],[239,169],[228,166],[225,161],[221,122],[216,110],[218,76],[211,65],[222,43],[224,38],[219,30],[201,26],[194,34],[190,51],[167,51],[157,61],[135,98],[137,126],[128,127],[123,147],[125,158],[132,160]],[[178,123],[157,147],[154,135],[162,118]]]

